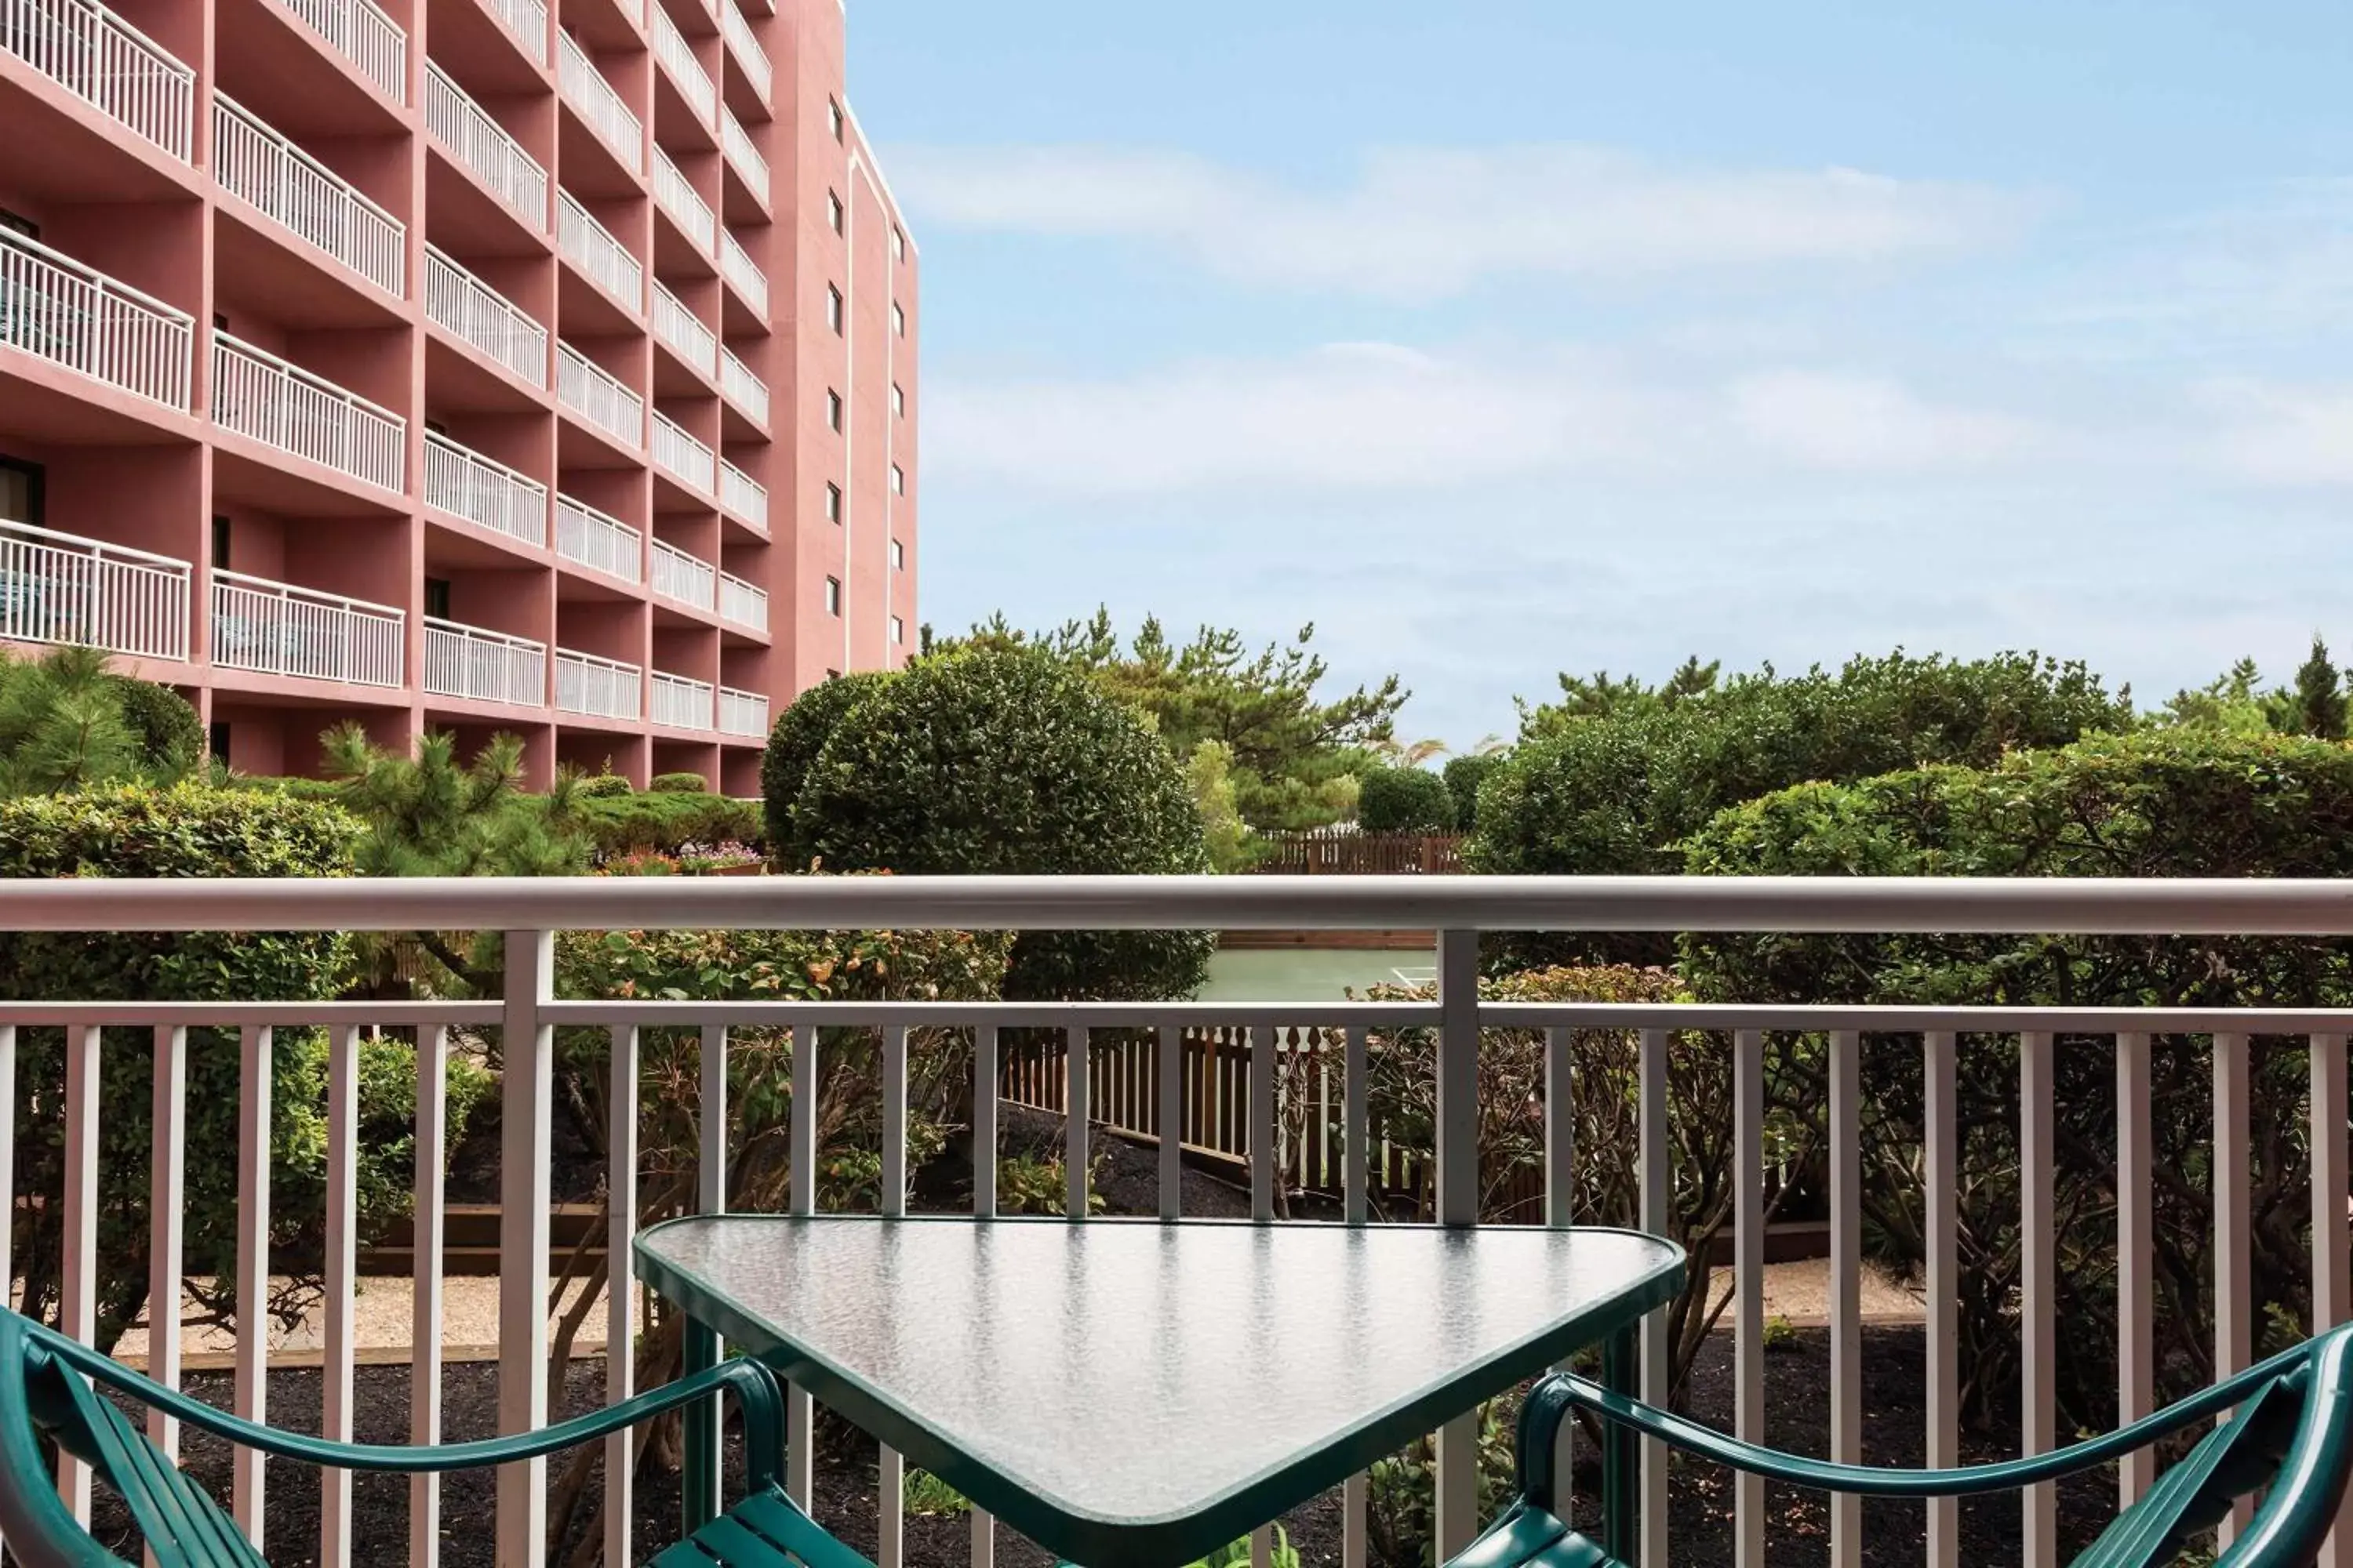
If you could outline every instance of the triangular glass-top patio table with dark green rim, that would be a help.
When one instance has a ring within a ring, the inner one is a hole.
[[[1174,1568],[1682,1286],[1619,1229],[696,1215],[696,1324],[1075,1563]]]

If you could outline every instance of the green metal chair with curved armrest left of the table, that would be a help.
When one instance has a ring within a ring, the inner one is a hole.
[[[696,1399],[729,1394],[744,1410],[746,1495],[727,1514],[656,1556],[656,1568],[873,1568],[784,1495],[779,1486],[784,1394],[774,1373],[751,1359],[727,1361],[544,1432],[435,1448],[329,1443],[256,1427],[5,1309],[0,1309],[0,1368],[9,1368],[0,1375],[0,1537],[24,1568],[115,1568],[122,1561],[92,1540],[59,1500],[54,1474],[42,1460],[42,1434],[87,1460],[96,1479],[122,1497],[160,1568],[268,1568],[221,1505],[188,1481],[94,1385],[273,1458],[395,1474],[532,1460]]]

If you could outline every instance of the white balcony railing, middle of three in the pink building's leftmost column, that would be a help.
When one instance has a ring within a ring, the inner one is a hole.
[[[193,317],[12,228],[0,228],[0,348],[188,411]]]

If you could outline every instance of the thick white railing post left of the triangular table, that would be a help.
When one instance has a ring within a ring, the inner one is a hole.
[[[555,938],[506,933],[506,1004],[499,1020],[499,1432],[548,1420],[548,1161],[555,1103]],[[548,1462],[499,1467],[499,1561],[532,1563],[548,1537]]]

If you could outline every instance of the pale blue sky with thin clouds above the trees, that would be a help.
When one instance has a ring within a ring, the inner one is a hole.
[[[2353,7],[856,0],[922,614],[1395,670],[2353,651]]]

